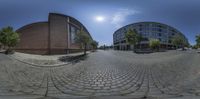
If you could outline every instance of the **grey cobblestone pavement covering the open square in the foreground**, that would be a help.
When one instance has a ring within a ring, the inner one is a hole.
[[[199,59],[193,51],[98,51],[69,65],[35,67],[0,54],[0,98],[198,99]]]

